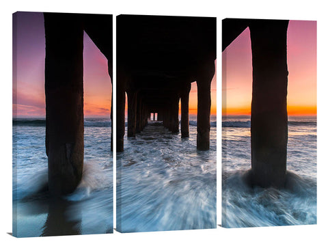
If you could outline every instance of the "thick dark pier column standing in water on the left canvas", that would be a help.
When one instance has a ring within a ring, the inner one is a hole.
[[[71,193],[83,172],[83,27],[77,14],[44,13],[49,191]]]

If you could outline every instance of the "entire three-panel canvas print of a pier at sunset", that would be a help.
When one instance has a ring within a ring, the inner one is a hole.
[[[13,236],[113,233],[114,211],[123,233],[217,228],[217,140],[223,227],[315,224],[316,21],[219,34],[215,17],[13,14]]]

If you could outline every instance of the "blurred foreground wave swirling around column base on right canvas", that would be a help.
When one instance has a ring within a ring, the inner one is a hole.
[[[223,227],[316,223],[316,180],[288,172],[285,189],[252,189],[245,181],[247,172],[223,174]]]

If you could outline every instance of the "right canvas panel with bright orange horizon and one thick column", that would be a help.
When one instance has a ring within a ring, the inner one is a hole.
[[[316,224],[316,21],[222,31],[222,226]]]

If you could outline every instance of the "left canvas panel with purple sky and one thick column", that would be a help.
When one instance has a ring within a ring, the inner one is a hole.
[[[13,236],[113,232],[112,31],[109,14],[13,14]]]

